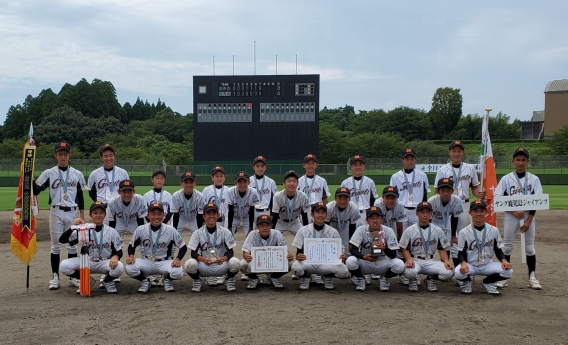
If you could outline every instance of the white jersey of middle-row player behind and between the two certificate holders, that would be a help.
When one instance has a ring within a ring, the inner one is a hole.
[[[289,231],[292,235],[296,235],[298,229],[302,227],[300,219],[302,211],[309,213],[309,210],[310,202],[304,192],[297,190],[292,199],[286,195],[286,190],[277,192],[272,198],[272,212],[278,214],[278,222],[274,228],[280,232]]]

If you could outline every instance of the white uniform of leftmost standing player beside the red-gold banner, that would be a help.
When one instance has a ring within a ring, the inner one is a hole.
[[[59,237],[73,225],[80,215],[80,207],[84,208],[83,190],[87,189],[83,174],[71,167],[55,166],[47,169],[36,180],[38,192],[49,188],[49,234],[51,237],[51,254],[61,252]],[[37,193],[36,193],[37,194]],[[76,254],[77,247],[67,245],[68,254]]]

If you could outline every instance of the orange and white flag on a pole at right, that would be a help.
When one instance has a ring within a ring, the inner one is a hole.
[[[485,203],[487,204],[487,216],[485,222],[497,226],[497,214],[494,209],[493,193],[497,188],[497,174],[495,173],[495,161],[491,150],[489,138],[489,114],[483,118],[481,126],[481,185],[485,191]]]

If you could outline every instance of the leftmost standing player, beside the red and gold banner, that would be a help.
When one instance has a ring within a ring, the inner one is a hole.
[[[69,166],[71,145],[66,142],[55,144],[57,165],[45,170],[33,184],[33,193],[38,195],[49,188],[49,235],[51,237],[51,271],[52,279],[49,289],[59,289],[59,260],[61,234],[73,225],[75,218],[85,219],[83,190],[87,184],[80,171]],[[67,257],[77,257],[77,246],[67,244]],[[79,279],[71,278],[69,286],[79,287]]]

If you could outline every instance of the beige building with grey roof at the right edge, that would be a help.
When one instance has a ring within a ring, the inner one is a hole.
[[[553,80],[544,88],[544,136],[568,124],[568,79]]]

